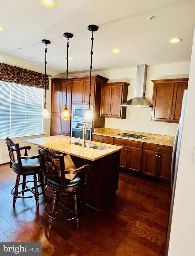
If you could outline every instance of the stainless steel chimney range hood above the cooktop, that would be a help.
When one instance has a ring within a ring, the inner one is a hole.
[[[122,103],[121,107],[149,108],[152,104],[145,99],[147,65],[137,65],[135,98]]]

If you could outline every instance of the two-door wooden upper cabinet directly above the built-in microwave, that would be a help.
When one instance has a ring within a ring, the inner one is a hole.
[[[95,77],[91,78],[91,100],[90,104],[94,104]],[[89,103],[89,78],[73,79],[73,104]]]

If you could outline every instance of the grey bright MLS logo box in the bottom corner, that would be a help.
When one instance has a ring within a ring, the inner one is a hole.
[[[1,256],[12,256],[16,254],[41,256],[41,243],[0,243]]]

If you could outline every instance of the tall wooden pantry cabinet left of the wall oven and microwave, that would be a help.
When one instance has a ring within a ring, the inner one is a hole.
[[[54,80],[51,84],[51,136],[67,135],[70,136],[71,121],[71,96],[72,80],[68,80],[67,87],[67,108],[69,109],[70,120],[62,120],[62,112],[66,104],[66,81]]]

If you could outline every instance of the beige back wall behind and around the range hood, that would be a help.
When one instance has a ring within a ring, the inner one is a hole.
[[[143,64],[143,63],[141,63]],[[152,102],[153,83],[155,79],[171,79],[171,78],[186,78],[189,76],[190,62],[171,63],[165,65],[148,66],[147,68],[147,83],[146,83],[146,98]],[[93,74],[99,74],[109,78],[109,82],[128,82],[128,100],[135,96],[135,81],[137,67],[128,69],[116,70],[95,70]],[[70,76],[89,75],[89,72],[74,72]],[[65,76],[64,73],[58,77]],[[105,118],[105,127],[115,129],[125,129],[138,132],[149,132],[165,135],[175,135],[177,124],[169,124],[164,122],[156,122],[151,120],[151,108],[127,108],[126,119]],[[119,126],[116,126],[119,123]],[[169,127],[169,131],[165,132],[165,127]]]

